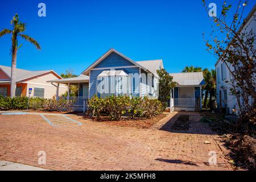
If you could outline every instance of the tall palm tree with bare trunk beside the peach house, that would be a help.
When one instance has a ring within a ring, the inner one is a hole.
[[[12,59],[11,59],[11,97],[15,97],[15,89],[16,89],[16,57],[17,57],[17,51],[22,46],[20,45],[18,47],[18,39],[17,37],[20,36],[21,38],[27,40],[28,42],[34,44],[34,46],[37,49],[41,49],[38,42],[36,42],[35,39],[32,39],[30,36],[25,34],[20,34],[26,30],[26,24],[19,21],[18,14],[15,14],[13,16],[13,19],[11,20],[11,24],[13,24],[13,30],[9,30],[7,28],[3,29],[0,32],[0,37],[7,34],[12,34],[11,36],[11,53],[12,53]]]

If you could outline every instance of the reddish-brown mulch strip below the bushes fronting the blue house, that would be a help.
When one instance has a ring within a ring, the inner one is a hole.
[[[104,122],[108,125],[112,126],[128,126],[128,127],[137,127],[137,128],[149,128],[155,123],[158,123],[161,119],[166,117],[168,114],[160,114],[154,118],[147,119],[147,118],[136,118],[136,119],[130,119],[130,118],[122,118],[121,121],[110,121],[108,116],[101,116],[99,119],[93,119],[93,121],[96,122]],[[84,119],[90,119],[87,115],[84,116]]]

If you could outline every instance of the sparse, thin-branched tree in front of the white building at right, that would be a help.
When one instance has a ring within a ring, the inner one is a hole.
[[[217,30],[213,30],[210,38],[205,40],[207,50],[222,61],[230,72],[230,94],[237,98],[240,116],[237,129],[242,124],[247,128],[255,123],[256,115],[255,32],[252,28],[249,29],[252,21],[242,18],[248,2],[238,1],[234,13],[230,14],[232,5],[225,1],[221,15],[213,16],[212,19]],[[208,9],[204,0],[203,3],[205,9]],[[253,19],[255,21],[255,15]],[[214,35],[216,31],[218,34]]]

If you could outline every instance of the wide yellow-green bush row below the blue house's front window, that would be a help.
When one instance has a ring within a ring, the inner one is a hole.
[[[90,117],[100,117],[102,111],[108,111],[111,120],[119,120],[122,115],[129,113],[131,118],[152,118],[163,112],[162,102],[147,97],[110,96],[106,98],[92,97],[88,101]]]

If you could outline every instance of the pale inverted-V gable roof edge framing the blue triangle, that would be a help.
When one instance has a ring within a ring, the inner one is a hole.
[[[147,68],[143,67],[143,65],[138,64],[136,61],[131,60],[129,57],[123,55],[122,53],[118,52],[117,50],[110,48],[109,51],[107,51],[106,53],[104,53],[104,55],[102,55],[99,59],[97,59],[96,61],[94,61],[93,64],[91,64],[88,68],[85,69],[85,71],[82,72],[82,74],[86,74],[90,71],[90,69],[92,69],[93,67],[95,67],[98,63],[100,63],[102,60],[104,60],[108,55],[110,55],[110,53],[117,53],[119,56],[122,56],[123,58],[125,58],[126,60],[130,61],[131,63],[133,63],[134,65],[137,65],[139,68],[144,69],[144,71],[147,72],[151,72],[150,70],[148,70]],[[152,72],[151,72],[152,73]],[[153,73],[154,74],[154,73]]]

